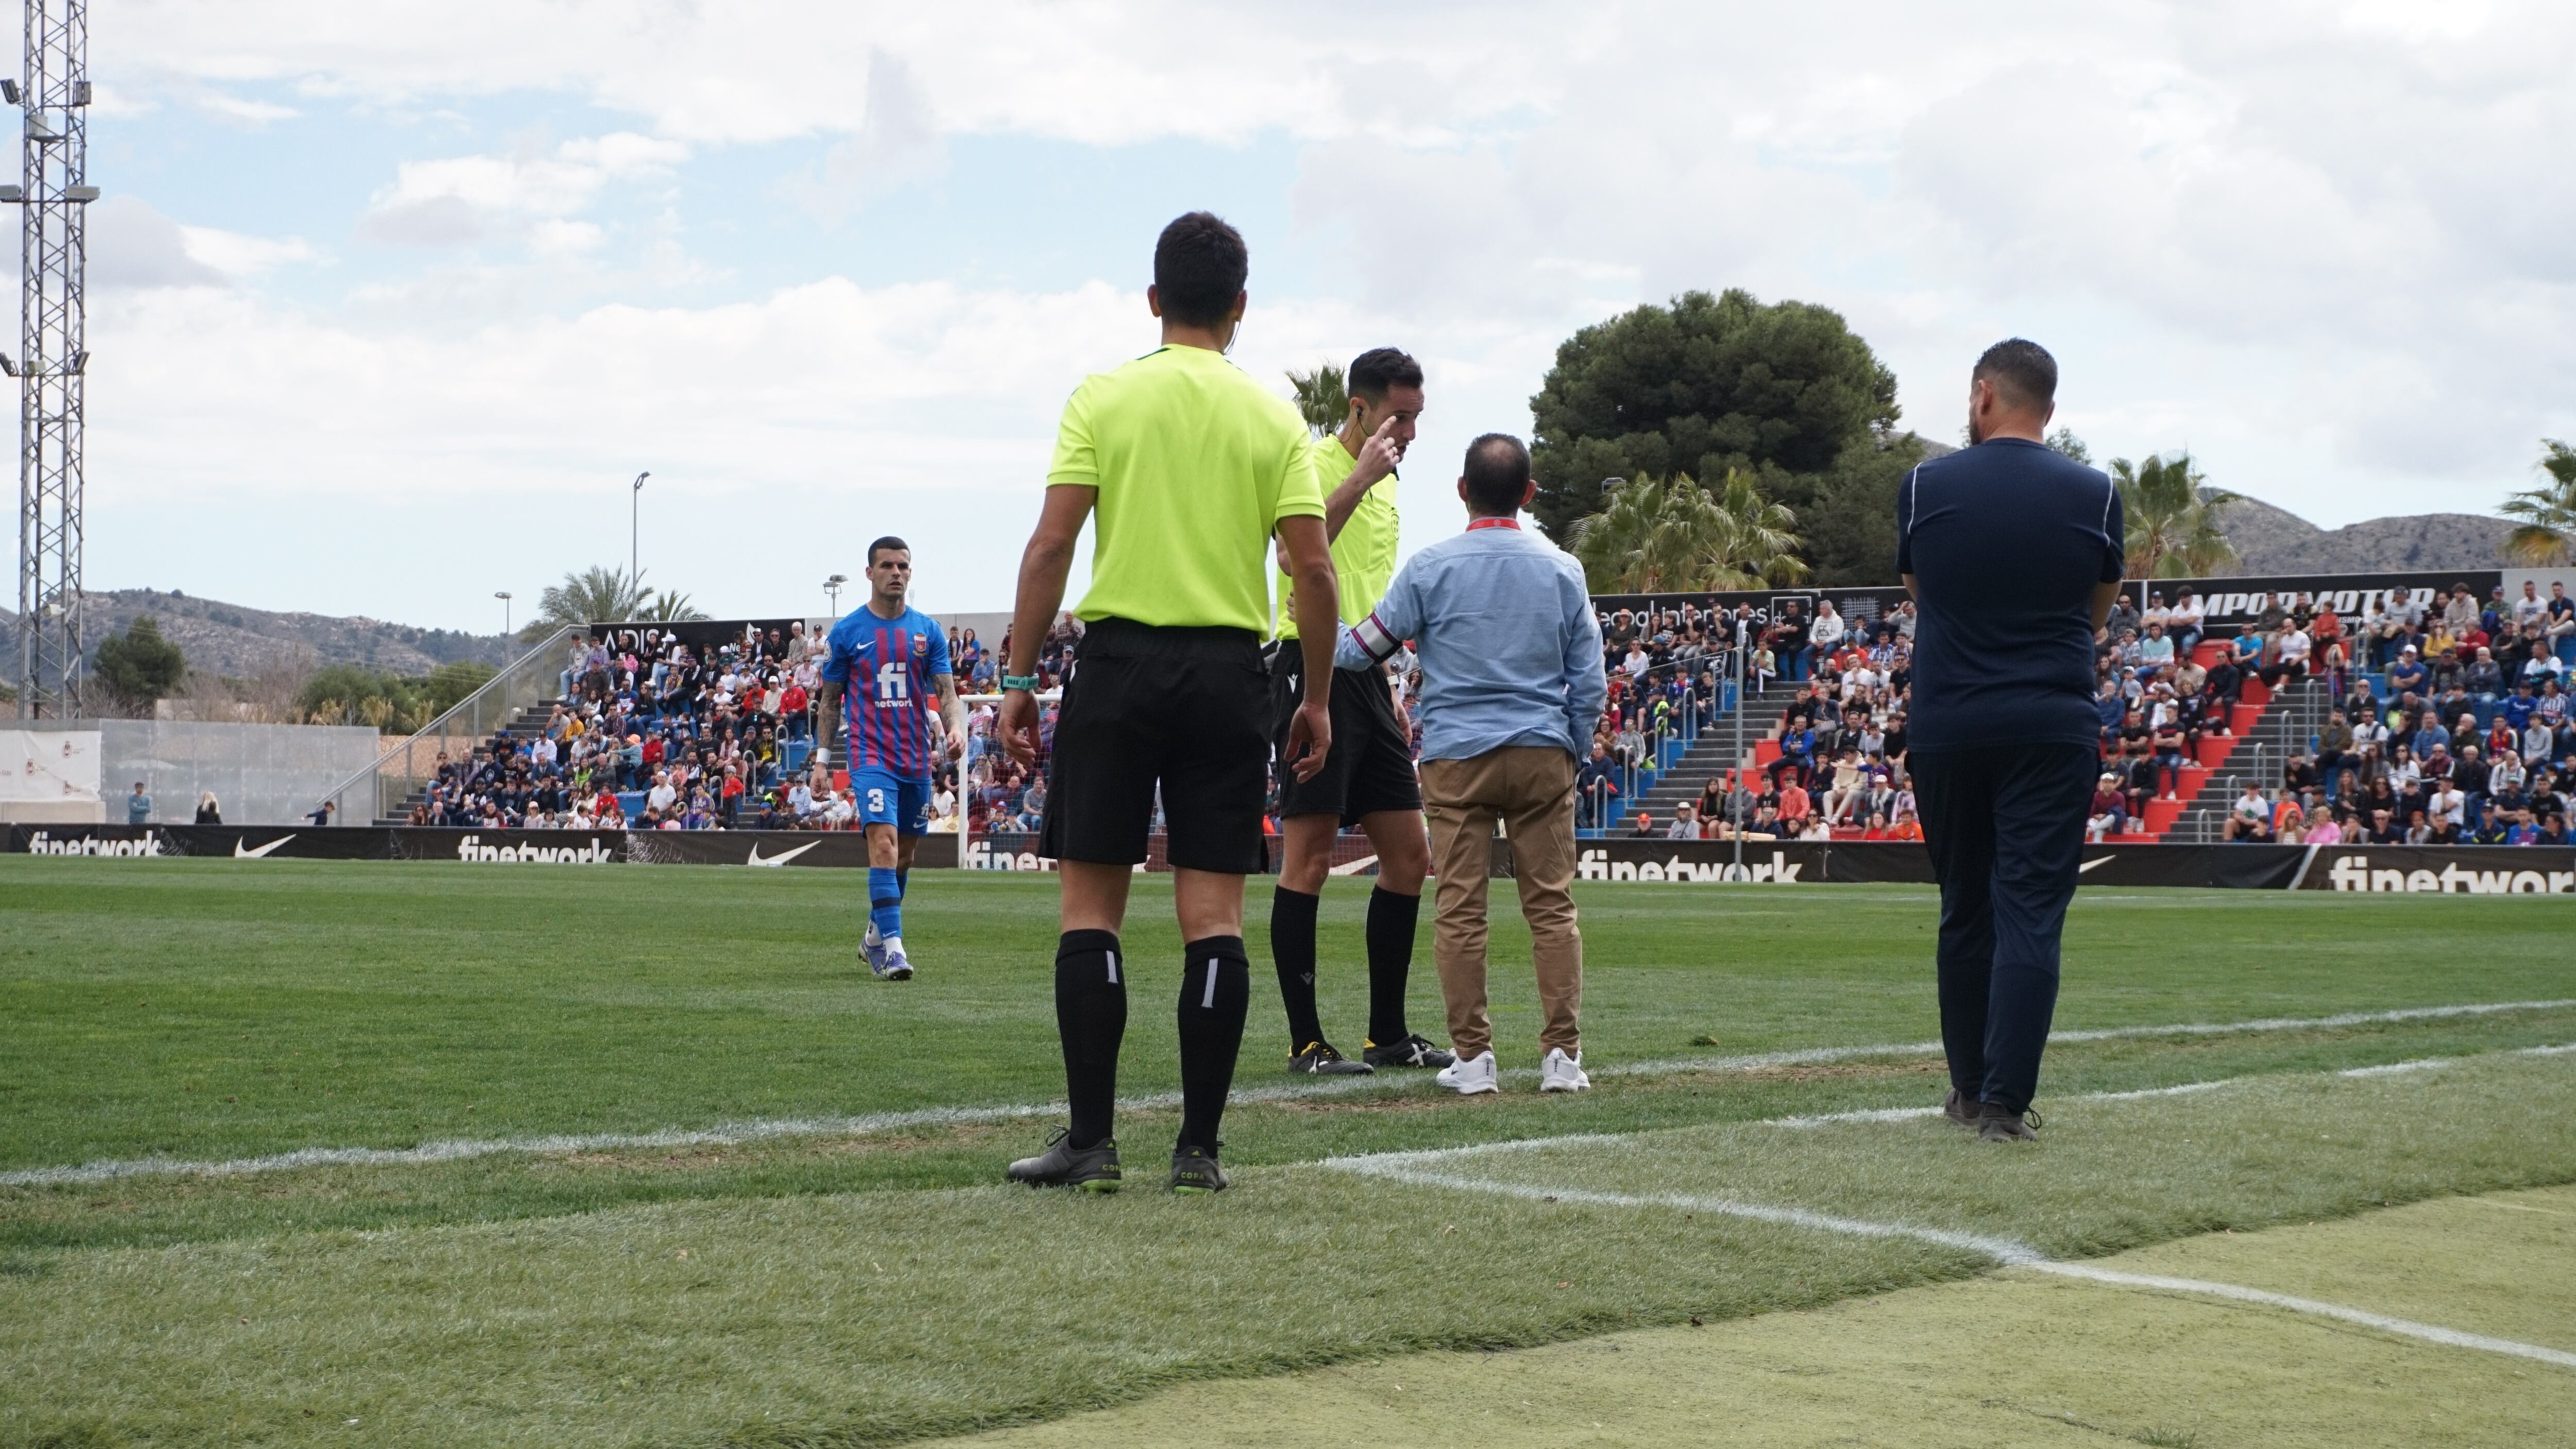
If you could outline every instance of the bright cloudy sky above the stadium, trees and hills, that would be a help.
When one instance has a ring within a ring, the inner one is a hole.
[[[497,628],[623,564],[819,613],[876,533],[1007,607],[1054,414],[1252,242],[1236,360],[1430,368],[1406,540],[1556,342],[1744,286],[1958,432],[2004,335],[2097,456],[2316,522],[2576,435],[2558,3],[93,0],[90,587]]]

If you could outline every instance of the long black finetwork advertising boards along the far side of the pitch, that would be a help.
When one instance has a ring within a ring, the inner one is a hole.
[[[969,870],[1051,870],[1036,836],[974,836]],[[10,854],[103,860],[461,860],[471,865],[868,865],[858,831],[484,831],[415,826],[8,826]],[[1337,875],[1370,867],[1368,842],[1345,836]],[[1932,854],[1904,842],[1577,842],[1579,880],[1664,885],[1868,885],[1932,883]],[[917,867],[958,862],[958,836],[922,836]],[[1278,867],[1278,842],[1270,847]],[[1154,836],[1144,870],[1164,870]],[[2385,844],[2089,844],[2084,885],[2218,885],[2236,891],[2342,891],[2437,896],[2576,896],[2568,847],[2385,847]],[[1494,875],[1512,872],[1512,844],[1494,842]]]

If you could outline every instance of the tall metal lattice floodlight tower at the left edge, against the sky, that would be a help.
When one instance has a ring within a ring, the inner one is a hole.
[[[80,713],[80,376],[85,340],[82,211],[90,167],[90,0],[26,0],[26,75],[0,80],[26,108],[18,360],[18,718]]]

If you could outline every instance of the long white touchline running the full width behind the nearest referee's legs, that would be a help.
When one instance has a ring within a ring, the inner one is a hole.
[[[2437,1017],[2488,1017],[2496,1011],[2553,1011],[2576,1006],[2566,1001],[2481,1001],[2465,1006],[2406,1006],[2396,1011],[2347,1011],[2339,1017],[2264,1017],[2257,1022],[2184,1022],[2164,1027],[2102,1027],[2087,1032],[2050,1032],[2050,1042],[2107,1042],[2130,1037],[2205,1037],[2226,1032],[2295,1032],[2308,1027],[2362,1027],[2375,1022],[2424,1022]],[[1940,1055],[1940,1042],[1893,1042],[1868,1048],[1806,1048],[1785,1053],[1752,1053],[1731,1058],[1674,1058],[1620,1066],[1597,1066],[1592,1076],[1669,1076],[1682,1071],[1765,1071],[1775,1066],[1814,1066],[1855,1058]],[[2576,1050],[2576,1048],[2555,1048]],[[2372,1068],[2362,1068],[2372,1071]],[[1504,1071],[1507,1078],[1538,1076],[1538,1068]],[[1345,1076],[1334,1081],[1293,1086],[1252,1086],[1234,1091],[1231,1102],[1301,1102],[1309,1096],[1347,1096],[1355,1091],[1401,1091],[1396,1081]],[[2172,1091],[2172,1089],[2156,1089]],[[1154,1112],[1180,1107],[1177,1091],[1151,1096],[1123,1096],[1126,1112]],[[786,1117],[757,1122],[719,1122],[714,1127],[670,1127],[662,1132],[577,1132],[546,1138],[440,1138],[412,1148],[296,1148],[258,1158],[103,1158],[77,1166],[13,1168],[0,1171],[0,1186],[54,1186],[113,1181],[126,1176],[247,1176],[265,1171],[330,1168],[330,1166],[430,1166],[492,1158],[505,1153],[605,1153],[634,1148],[732,1148],[775,1138],[866,1138],[873,1132],[899,1132],[904,1127],[948,1127],[979,1122],[1012,1122],[1023,1117],[1061,1114],[1061,1102],[1023,1102],[1010,1107],[922,1107],[914,1112],[873,1112],[866,1117]],[[1911,1109],[1909,1109],[1911,1112]],[[1857,1117],[1868,1120],[1868,1117]]]

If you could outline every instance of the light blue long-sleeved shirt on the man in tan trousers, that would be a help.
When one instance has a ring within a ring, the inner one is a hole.
[[[1587,754],[1610,685],[1569,553],[1520,528],[1443,538],[1396,571],[1373,615],[1342,628],[1334,664],[1365,669],[1406,638],[1422,654],[1422,759],[1507,744]]]

